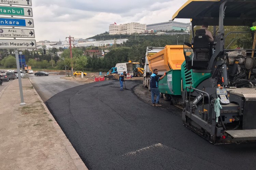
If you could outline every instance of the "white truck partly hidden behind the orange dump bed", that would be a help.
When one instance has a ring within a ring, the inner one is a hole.
[[[144,87],[148,87],[148,90],[150,90],[150,68],[147,57],[152,56],[163,49],[165,49],[165,47],[147,47],[145,58],[142,59],[142,64],[144,65],[143,85]]]

